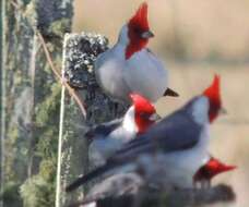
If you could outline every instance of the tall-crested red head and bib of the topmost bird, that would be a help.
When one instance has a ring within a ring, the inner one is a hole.
[[[130,41],[126,50],[126,59],[129,59],[134,52],[144,48],[149,38],[153,36],[147,22],[147,3],[143,2],[128,23],[128,37]]]

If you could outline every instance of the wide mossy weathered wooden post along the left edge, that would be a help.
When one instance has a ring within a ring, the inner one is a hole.
[[[60,69],[63,35],[71,31],[72,0],[2,0],[3,10],[4,206],[54,206],[61,84],[37,34]]]

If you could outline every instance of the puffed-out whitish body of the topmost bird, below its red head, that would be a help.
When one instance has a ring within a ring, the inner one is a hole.
[[[151,101],[161,98],[168,86],[163,63],[146,49],[124,59],[124,46],[116,45],[100,54],[95,74],[102,88],[118,100],[129,101],[130,93],[139,93]]]

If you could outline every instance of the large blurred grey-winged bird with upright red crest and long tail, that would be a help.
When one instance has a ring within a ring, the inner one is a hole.
[[[138,168],[145,178],[158,180],[156,183],[192,187],[194,173],[210,158],[210,123],[217,118],[221,109],[220,77],[215,75],[212,85],[202,95],[124,144],[104,166],[79,178],[67,191],[102,174]]]

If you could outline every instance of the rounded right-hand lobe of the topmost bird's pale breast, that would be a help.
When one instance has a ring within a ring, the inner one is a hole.
[[[155,102],[168,87],[168,75],[163,63],[146,49],[135,52],[127,60],[123,70],[127,85]]]

